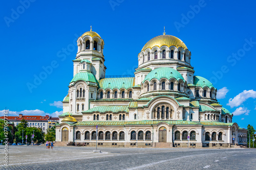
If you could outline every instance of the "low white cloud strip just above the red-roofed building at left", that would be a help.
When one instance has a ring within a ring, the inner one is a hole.
[[[35,115],[35,116],[50,115],[52,117],[57,117],[58,115],[63,113],[63,111],[56,111],[56,112],[53,112],[53,113],[46,113],[46,112],[44,112],[42,110],[38,110],[38,109],[23,110],[23,111],[20,111],[20,112],[9,111],[9,110],[6,110],[6,111],[8,111],[8,116],[18,116],[18,114],[23,114],[23,115]],[[4,113],[5,113],[5,110],[0,110],[0,116],[4,116]]]

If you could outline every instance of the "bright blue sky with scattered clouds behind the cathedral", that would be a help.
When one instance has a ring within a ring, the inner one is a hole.
[[[59,101],[73,76],[75,41],[91,25],[105,42],[106,75],[133,74],[141,48],[165,26],[167,34],[180,38],[191,51],[195,75],[219,90],[219,102],[236,114],[233,122],[242,128],[256,126],[255,5],[209,0],[1,2],[0,110],[61,113]],[[35,76],[51,65],[49,74],[41,75],[45,80],[29,89],[27,84],[34,84]]]

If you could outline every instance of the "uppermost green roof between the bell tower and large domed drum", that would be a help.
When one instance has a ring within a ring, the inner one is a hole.
[[[99,86],[103,89],[114,89],[114,88],[131,88],[135,84],[135,78],[134,77],[128,77],[128,78],[105,78],[99,80]]]

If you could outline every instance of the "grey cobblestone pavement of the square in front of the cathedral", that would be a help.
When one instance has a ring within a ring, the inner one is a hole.
[[[0,169],[256,169],[255,149],[95,148],[0,145]]]

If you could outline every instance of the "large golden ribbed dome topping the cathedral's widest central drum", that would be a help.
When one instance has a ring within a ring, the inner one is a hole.
[[[184,50],[187,49],[187,46],[179,38],[172,36],[172,35],[159,35],[159,36],[154,37],[151,40],[149,40],[143,46],[141,51],[146,50],[146,48],[152,49],[154,46],[161,47],[163,45],[166,45],[168,47],[174,45],[177,48],[182,47],[182,48],[184,48]]]

